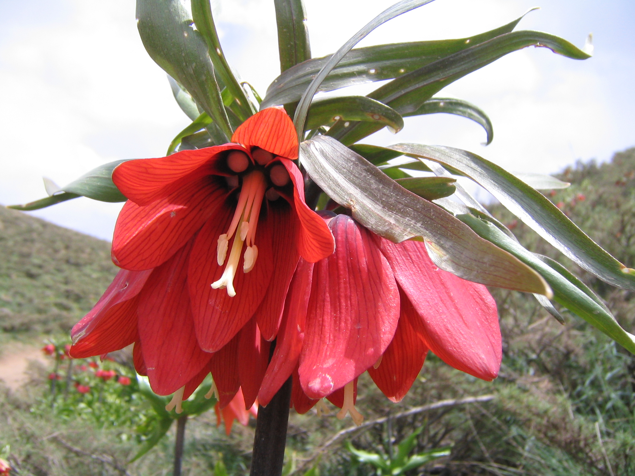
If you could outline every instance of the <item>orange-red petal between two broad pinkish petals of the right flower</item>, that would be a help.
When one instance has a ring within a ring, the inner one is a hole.
[[[428,348],[412,324],[415,322],[416,326],[418,319],[417,311],[408,298],[402,296],[399,324],[391,345],[384,352],[379,367],[368,369],[377,387],[393,402],[401,401],[408,393],[428,353]]]

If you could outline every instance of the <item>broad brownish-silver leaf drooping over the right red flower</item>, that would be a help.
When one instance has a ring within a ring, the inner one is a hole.
[[[300,144],[307,172],[364,227],[393,242],[422,237],[434,263],[464,279],[550,294],[517,258],[478,237],[445,210],[408,192],[363,157],[328,136]]]

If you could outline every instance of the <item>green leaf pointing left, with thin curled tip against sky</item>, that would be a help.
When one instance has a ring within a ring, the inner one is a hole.
[[[116,166],[127,160],[129,159],[109,162],[92,169],[77,180],[62,187],[62,193],[57,193],[24,205],[10,205],[8,208],[22,211],[37,210],[81,196],[101,202],[125,202],[126,197],[124,197],[116,185],[112,183],[112,171]]]

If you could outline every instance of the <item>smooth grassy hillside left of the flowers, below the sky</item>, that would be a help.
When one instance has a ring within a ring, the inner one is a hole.
[[[110,244],[0,207],[3,338],[68,331],[116,274]],[[26,336],[25,336],[26,337]]]

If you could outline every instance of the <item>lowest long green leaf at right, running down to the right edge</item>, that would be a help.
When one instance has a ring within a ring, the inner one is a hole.
[[[480,220],[469,214],[458,215],[457,218],[467,223],[481,237],[509,251],[519,260],[537,270],[549,282],[556,302],[582,317],[582,319],[615,340],[626,350],[635,354],[635,336],[620,327],[608,308],[603,303],[598,302],[599,300],[594,299],[596,296],[592,296],[592,293],[589,294],[581,289],[580,284],[582,283],[578,279],[575,279],[577,282],[570,281],[568,277],[560,274],[554,267],[547,265],[542,258],[538,258],[538,256],[527,251],[492,223]],[[584,288],[586,287],[584,286]],[[588,291],[591,290],[589,289]]]

